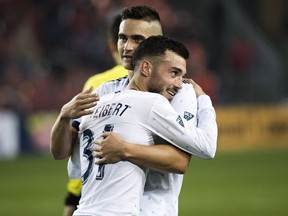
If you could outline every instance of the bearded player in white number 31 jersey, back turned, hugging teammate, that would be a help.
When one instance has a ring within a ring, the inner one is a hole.
[[[78,124],[74,121],[79,129],[83,187],[73,215],[140,214],[147,168],[127,161],[95,165],[93,140],[100,137],[103,130],[115,131],[128,142],[145,145],[153,145],[154,136],[158,135],[188,153],[200,151],[201,146],[194,144],[202,135],[202,129],[185,127],[168,101],[182,88],[188,56],[188,50],[180,42],[163,36],[149,37],[135,50],[134,75],[128,88],[102,96],[91,110],[92,114]],[[206,115],[214,115],[211,107],[204,110],[208,112]],[[209,122],[203,119],[199,128]]]

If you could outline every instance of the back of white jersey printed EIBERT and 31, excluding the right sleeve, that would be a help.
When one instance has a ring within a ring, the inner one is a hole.
[[[149,119],[153,107],[163,101],[168,103],[159,94],[125,90],[101,97],[94,112],[83,117],[79,125],[83,186],[74,215],[139,215],[146,171],[125,161],[98,166],[91,146],[103,131],[114,131],[128,142],[154,144]]]

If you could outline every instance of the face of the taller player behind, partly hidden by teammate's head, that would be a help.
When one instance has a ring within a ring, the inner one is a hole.
[[[162,34],[161,25],[157,21],[123,20],[119,26],[118,51],[124,68],[132,69],[131,63],[134,50],[143,40],[150,36]]]

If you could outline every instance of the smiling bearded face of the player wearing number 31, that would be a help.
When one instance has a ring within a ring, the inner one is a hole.
[[[172,51],[166,51],[165,60],[152,66],[148,91],[160,93],[169,101],[182,88],[186,74],[186,60]]]

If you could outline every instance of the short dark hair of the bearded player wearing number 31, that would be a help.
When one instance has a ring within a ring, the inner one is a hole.
[[[184,59],[189,58],[189,51],[183,43],[165,36],[151,36],[143,40],[135,49],[132,68],[134,69],[136,64],[143,58],[163,56],[167,50],[178,54]]]

